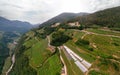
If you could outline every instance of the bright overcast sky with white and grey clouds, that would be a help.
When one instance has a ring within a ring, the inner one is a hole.
[[[43,23],[63,12],[88,12],[120,6],[120,0],[0,0],[0,16]]]

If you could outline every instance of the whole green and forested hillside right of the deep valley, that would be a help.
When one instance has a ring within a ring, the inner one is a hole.
[[[111,30],[119,28],[118,9],[68,20],[80,21],[80,26],[49,26],[58,22],[55,17],[27,32],[16,47],[9,75],[120,75],[120,32]]]

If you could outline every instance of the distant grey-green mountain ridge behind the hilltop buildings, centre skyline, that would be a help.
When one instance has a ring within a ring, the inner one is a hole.
[[[68,20],[71,20],[77,16],[84,16],[84,15],[88,15],[88,13],[62,13],[58,16],[55,16],[53,18],[51,18],[50,20],[40,24],[40,26],[49,26],[49,25],[52,25],[54,23],[57,23],[57,22],[65,22],[65,21],[68,21]]]

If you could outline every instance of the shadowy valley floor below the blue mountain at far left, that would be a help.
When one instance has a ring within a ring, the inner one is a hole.
[[[19,39],[20,35],[18,33],[14,32],[3,32],[2,38],[1,38],[1,44],[2,47],[0,48],[1,51],[1,58],[4,57],[4,59],[1,60],[1,67],[3,70],[1,70],[2,74],[4,75],[5,72],[8,70],[9,66],[11,65],[11,58],[14,53],[15,48],[15,41]],[[2,64],[3,61],[3,64]]]

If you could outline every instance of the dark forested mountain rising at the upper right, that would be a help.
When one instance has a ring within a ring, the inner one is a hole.
[[[120,6],[77,17],[73,20],[78,20],[80,23],[87,26],[98,25],[109,28],[120,28]]]

